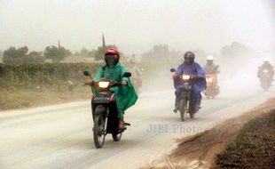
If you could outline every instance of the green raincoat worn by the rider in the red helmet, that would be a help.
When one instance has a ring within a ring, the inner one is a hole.
[[[122,77],[125,72],[127,72],[127,69],[124,68],[121,63],[117,63],[114,67],[109,67],[106,65],[104,67],[100,67],[97,75],[93,78],[95,82],[98,82],[102,77],[106,77],[114,82],[127,82],[127,85],[122,85],[120,87],[115,86],[110,89],[110,91],[113,91],[116,94],[116,104],[118,116],[120,118],[123,117],[124,111],[133,106],[138,100],[138,95],[133,84],[130,82],[130,78]],[[98,89],[95,86],[91,86],[91,91],[95,93]]]

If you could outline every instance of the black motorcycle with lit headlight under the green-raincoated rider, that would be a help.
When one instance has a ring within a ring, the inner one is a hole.
[[[84,76],[90,76],[90,72],[83,71]],[[123,74],[123,77],[130,77],[130,72]],[[92,78],[91,78],[92,79]],[[116,106],[115,93],[110,91],[114,86],[121,86],[121,83],[112,82],[107,78],[101,78],[99,82],[91,82],[90,85],[98,86],[91,99],[91,110],[93,117],[93,140],[97,149],[103,147],[106,134],[111,133],[114,141],[121,141],[122,133],[130,126],[123,122],[123,128],[118,128],[119,118]]]

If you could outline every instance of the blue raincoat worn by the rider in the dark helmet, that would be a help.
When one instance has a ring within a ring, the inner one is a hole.
[[[207,87],[206,79],[205,79],[205,71],[200,65],[196,62],[193,62],[191,65],[187,65],[182,63],[178,66],[175,75],[190,75],[190,76],[202,76],[202,78],[194,79],[192,81],[192,95],[191,97],[195,100],[195,110],[198,111],[200,108],[200,101],[201,101],[201,92],[204,91]],[[181,93],[181,85],[182,81],[180,79],[174,80],[174,86],[176,88],[176,108],[179,105],[180,101],[180,93]]]

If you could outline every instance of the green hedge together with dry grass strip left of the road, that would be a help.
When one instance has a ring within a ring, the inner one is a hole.
[[[0,63],[0,110],[24,109],[83,101],[90,88],[83,87],[83,70],[93,76],[99,64],[90,63]]]

